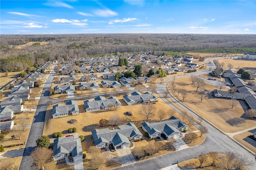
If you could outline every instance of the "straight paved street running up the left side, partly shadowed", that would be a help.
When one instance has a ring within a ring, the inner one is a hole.
[[[50,73],[46,83],[44,84],[44,88],[42,90],[42,94],[40,100],[38,101],[38,105],[36,108],[36,113],[34,115],[34,120],[30,128],[30,132],[28,134],[28,140],[26,142],[26,146],[24,149],[24,153],[22,156],[22,160],[20,162],[20,170],[35,170],[36,167],[32,166],[32,159],[30,157],[31,152],[36,148],[36,140],[40,138],[43,134],[44,128],[44,118],[46,114],[46,102],[49,100],[49,92],[48,89],[52,85],[52,80],[54,78],[54,71]]]

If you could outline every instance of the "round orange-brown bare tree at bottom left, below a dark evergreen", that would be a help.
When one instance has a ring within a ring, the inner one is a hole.
[[[52,161],[52,150],[46,147],[36,147],[31,153],[33,163],[44,170],[44,165]]]

